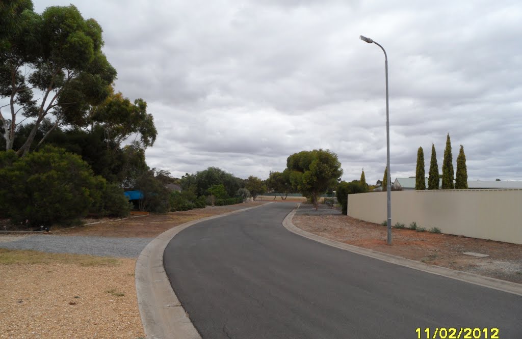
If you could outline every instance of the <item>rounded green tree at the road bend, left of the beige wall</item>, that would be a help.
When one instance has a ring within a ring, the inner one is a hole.
[[[322,149],[290,155],[287,169],[293,189],[310,198],[316,208],[321,194],[335,187],[342,175],[337,154]]]

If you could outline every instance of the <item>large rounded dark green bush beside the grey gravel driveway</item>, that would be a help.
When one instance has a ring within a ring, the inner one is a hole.
[[[12,153],[11,153],[12,154]],[[12,159],[12,155],[0,159]],[[0,168],[0,205],[14,222],[65,223],[100,204],[105,179],[93,176],[78,155],[45,147]]]

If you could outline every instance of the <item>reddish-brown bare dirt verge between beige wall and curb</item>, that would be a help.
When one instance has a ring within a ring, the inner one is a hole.
[[[292,222],[304,231],[342,243],[522,283],[522,245],[393,228],[393,245],[388,246],[385,226],[346,215],[295,215]],[[483,253],[489,257],[477,258],[462,254],[464,252]]]

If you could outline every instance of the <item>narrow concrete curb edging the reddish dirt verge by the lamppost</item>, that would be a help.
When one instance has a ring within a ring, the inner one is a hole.
[[[299,208],[299,205],[298,207]],[[362,256],[371,257],[378,260],[383,260],[389,263],[405,266],[414,270],[419,270],[423,272],[428,272],[432,274],[442,275],[451,279],[464,281],[467,283],[480,285],[484,287],[489,287],[493,289],[501,290],[502,292],[512,293],[519,296],[522,296],[522,284],[512,283],[504,280],[494,279],[487,276],[482,276],[478,274],[456,271],[452,269],[448,269],[440,266],[427,265],[425,263],[410,260],[402,257],[397,257],[393,255],[388,255],[386,253],[377,252],[371,249],[365,249],[353,245],[348,245],[345,243],[340,243],[339,241],[331,240],[324,238],[322,236],[318,236],[312,234],[310,232],[303,231],[301,228],[295,226],[292,223],[292,217],[295,214],[296,209],[290,212],[283,220],[283,226],[288,229],[288,231],[293,232],[295,234],[299,234],[305,238],[309,238],[319,243],[323,243],[325,245],[337,247],[343,250],[347,250],[350,252],[354,252],[360,254]]]

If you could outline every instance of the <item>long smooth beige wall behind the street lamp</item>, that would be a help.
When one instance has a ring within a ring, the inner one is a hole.
[[[382,223],[386,192],[348,195],[348,215]],[[522,189],[392,192],[392,224],[413,221],[426,230],[522,244]]]

